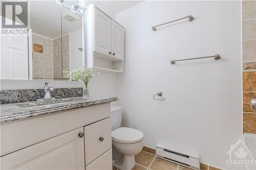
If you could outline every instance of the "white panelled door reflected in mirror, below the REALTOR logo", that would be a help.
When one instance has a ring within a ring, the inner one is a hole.
[[[28,36],[1,35],[1,79],[28,80]]]

